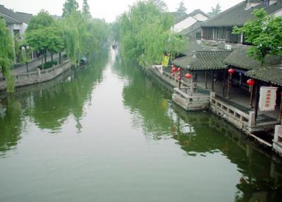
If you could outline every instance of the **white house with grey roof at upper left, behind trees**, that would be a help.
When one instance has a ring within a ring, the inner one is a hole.
[[[23,35],[32,18],[32,14],[15,12],[11,9],[0,5],[0,16],[6,21],[8,30],[11,31],[12,37],[15,35]]]

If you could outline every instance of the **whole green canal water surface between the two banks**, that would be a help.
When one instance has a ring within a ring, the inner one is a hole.
[[[281,161],[106,49],[0,95],[0,201],[281,201]]]

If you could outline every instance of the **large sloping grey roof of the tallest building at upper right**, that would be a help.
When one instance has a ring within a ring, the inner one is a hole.
[[[247,23],[248,20],[252,20],[252,12],[257,8],[263,8],[263,4],[254,6],[248,10],[245,10],[246,2],[243,1],[240,4],[237,4],[214,18],[202,23],[202,27],[233,27],[233,26],[243,26]],[[282,8],[282,2],[278,1],[271,6],[265,7],[267,13],[275,13],[276,11]]]

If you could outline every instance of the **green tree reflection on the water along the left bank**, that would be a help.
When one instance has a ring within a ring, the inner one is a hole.
[[[85,115],[85,103],[91,102],[92,90],[102,82],[102,72],[109,52],[90,59],[90,64],[73,68],[54,81],[20,88],[15,95],[0,96],[0,156],[17,145],[27,123],[34,122],[39,129],[59,133],[73,116],[80,133],[80,120]]]

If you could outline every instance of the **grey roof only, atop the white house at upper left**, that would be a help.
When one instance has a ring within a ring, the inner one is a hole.
[[[29,23],[32,18],[32,14],[14,12],[3,5],[0,5],[0,15],[4,17],[6,23]]]

